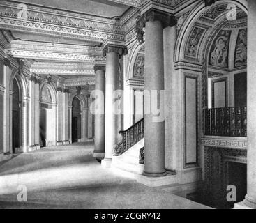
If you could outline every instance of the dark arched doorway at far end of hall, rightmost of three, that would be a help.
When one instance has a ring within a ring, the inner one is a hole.
[[[75,97],[72,102],[72,142],[81,139],[81,104]]]

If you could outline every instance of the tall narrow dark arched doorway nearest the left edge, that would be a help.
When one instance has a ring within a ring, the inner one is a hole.
[[[13,117],[13,153],[20,148],[20,89],[17,84],[17,80],[13,79],[13,106],[12,106],[12,117]]]

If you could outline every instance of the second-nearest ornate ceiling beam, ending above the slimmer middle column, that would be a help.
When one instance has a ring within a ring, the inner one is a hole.
[[[81,45],[64,45],[57,43],[38,43],[22,40],[13,40],[6,54],[16,58],[43,59],[54,61],[81,61],[105,63],[101,47],[85,47]]]

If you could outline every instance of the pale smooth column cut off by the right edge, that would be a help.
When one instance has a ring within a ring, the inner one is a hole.
[[[247,73],[247,195],[243,203],[256,208],[256,1],[248,0],[248,73]]]

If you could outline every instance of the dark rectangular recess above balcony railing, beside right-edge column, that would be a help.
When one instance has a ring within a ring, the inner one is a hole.
[[[247,75],[246,72],[234,75],[234,106],[247,105]]]

